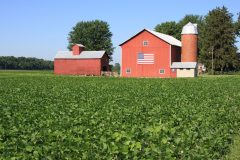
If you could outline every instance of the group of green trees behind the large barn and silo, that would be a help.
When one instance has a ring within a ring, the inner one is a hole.
[[[188,22],[198,24],[198,58],[210,73],[240,70],[236,39],[240,36],[240,15],[234,21],[228,9],[217,7],[205,16],[186,15],[180,21],[168,21],[156,25],[157,32],[172,35],[181,40],[181,31]]]

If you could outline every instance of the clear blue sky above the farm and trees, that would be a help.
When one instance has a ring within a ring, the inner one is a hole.
[[[110,25],[113,59],[119,62],[118,45],[143,28],[178,21],[186,14],[206,15],[223,5],[236,19],[239,0],[2,0],[0,56],[53,60],[58,50],[66,50],[68,33],[77,22],[100,19]]]

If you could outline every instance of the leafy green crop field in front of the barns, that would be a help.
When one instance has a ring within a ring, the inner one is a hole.
[[[0,71],[0,159],[220,159],[239,129],[240,76]]]

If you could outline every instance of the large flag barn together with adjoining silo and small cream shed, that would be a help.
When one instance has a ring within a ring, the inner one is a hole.
[[[143,29],[120,44],[122,77],[197,76],[197,25],[188,23],[182,42],[176,38]]]

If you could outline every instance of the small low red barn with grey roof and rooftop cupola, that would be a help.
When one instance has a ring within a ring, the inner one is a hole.
[[[54,73],[66,75],[95,75],[109,71],[109,56],[105,51],[84,51],[75,44],[72,51],[59,51],[54,58]]]

